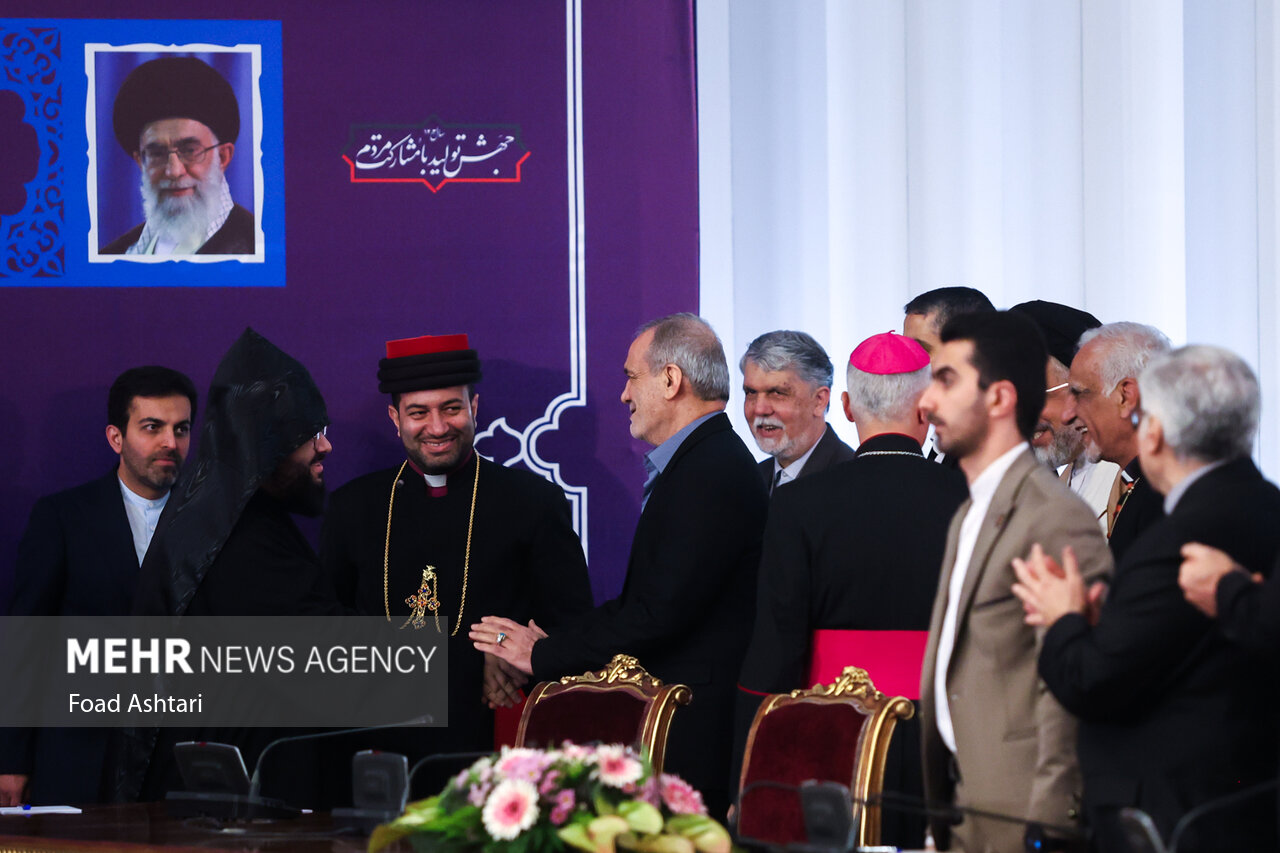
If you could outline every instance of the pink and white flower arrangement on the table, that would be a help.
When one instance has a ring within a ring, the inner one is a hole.
[[[628,747],[509,749],[374,830],[370,853],[408,838],[428,853],[730,853],[728,831],[685,780]]]

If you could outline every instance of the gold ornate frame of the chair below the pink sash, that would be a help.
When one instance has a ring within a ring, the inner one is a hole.
[[[846,666],[831,684],[815,684],[808,690],[771,694],[760,703],[746,735],[742,775],[739,780],[740,792],[746,785],[751,751],[760,722],[771,712],[794,704],[851,704],[867,717],[858,733],[858,754],[854,760],[854,777],[849,780],[849,793],[854,799],[854,820],[858,825],[855,844],[860,847],[879,844],[881,807],[863,803],[878,797],[883,790],[884,762],[893,727],[899,720],[910,720],[915,716],[915,706],[910,699],[900,695],[887,697],[877,690],[867,670],[856,666]]]

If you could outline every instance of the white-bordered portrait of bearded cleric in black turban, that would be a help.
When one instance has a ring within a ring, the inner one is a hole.
[[[261,47],[86,45],[90,260],[261,263]]]

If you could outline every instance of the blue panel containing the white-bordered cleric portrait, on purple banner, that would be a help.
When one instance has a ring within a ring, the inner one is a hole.
[[[278,20],[0,19],[0,41],[33,45],[0,79],[37,158],[0,287],[285,284]]]

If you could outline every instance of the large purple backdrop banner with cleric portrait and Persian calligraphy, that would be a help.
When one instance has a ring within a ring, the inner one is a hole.
[[[617,400],[621,365],[640,323],[698,309],[690,0],[224,0],[216,20],[12,0],[4,14],[0,606],[36,498],[116,462],[111,380],[163,364],[204,389],[246,325],[324,392],[330,488],[403,459],[376,392],[384,341],[470,334],[480,452],[559,484],[596,597],[618,590],[648,450]],[[234,92],[232,150],[122,136],[125,82],[172,58]],[[201,257],[206,236],[166,237],[147,188],[197,195],[182,172],[210,158],[250,242]],[[47,603],[41,583],[22,580],[28,603]]]

